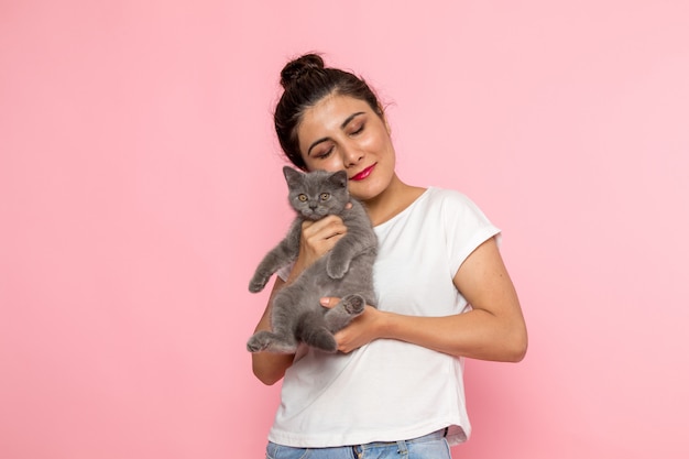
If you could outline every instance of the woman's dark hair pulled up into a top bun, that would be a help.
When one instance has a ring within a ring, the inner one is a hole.
[[[299,151],[297,128],[304,112],[324,97],[340,95],[363,100],[383,118],[378,97],[362,78],[339,68],[326,67],[318,54],[305,54],[288,62],[280,76],[284,92],[275,107],[275,132],[287,159],[303,171],[306,171],[306,164]]]

